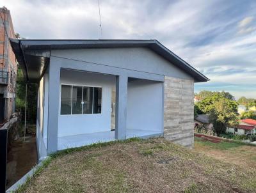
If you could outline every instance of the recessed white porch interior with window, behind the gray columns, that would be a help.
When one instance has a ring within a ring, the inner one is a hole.
[[[119,88],[118,81],[114,75],[60,70],[58,150],[163,135],[163,83],[127,77],[126,85]],[[126,112],[120,120],[118,105],[124,97],[120,98],[118,91],[125,87]],[[120,127],[120,123],[125,125]]]

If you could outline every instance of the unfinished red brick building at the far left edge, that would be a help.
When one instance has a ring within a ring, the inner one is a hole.
[[[15,111],[17,62],[9,38],[15,38],[10,11],[0,8],[0,124]],[[3,19],[3,20],[2,20]],[[5,29],[4,29],[5,27]]]

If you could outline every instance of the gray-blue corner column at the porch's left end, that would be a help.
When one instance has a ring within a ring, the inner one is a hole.
[[[58,117],[60,100],[60,62],[50,59],[47,155],[58,150]]]

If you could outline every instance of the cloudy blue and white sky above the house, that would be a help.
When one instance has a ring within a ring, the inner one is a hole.
[[[256,1],[1,0],[23,38],[156,39],[211,81],[256,98]]]

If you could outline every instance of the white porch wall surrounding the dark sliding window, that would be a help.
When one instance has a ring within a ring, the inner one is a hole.
[[[102,113],[61,115],[59,108],[58,137],[111,130],[111,87],[115,86],[115,76],[61,70],[60,84],[102,87]]]

